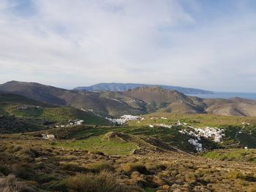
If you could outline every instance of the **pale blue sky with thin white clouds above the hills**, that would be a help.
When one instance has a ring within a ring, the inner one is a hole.
[[[255,0],[0,0],[0,83],[256,92]]]

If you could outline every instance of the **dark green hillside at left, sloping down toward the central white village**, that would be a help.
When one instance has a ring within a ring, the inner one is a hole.
[[[45,120],[48,123],[67,123],[69,120],[84,120],[86,124],[108,125],[105,118],[74,107],[57,107],[34,101],[11,93],[0,94],[1,115],[14,115],[17,118]]]

